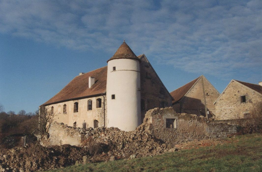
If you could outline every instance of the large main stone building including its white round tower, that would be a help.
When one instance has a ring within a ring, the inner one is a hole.
[[[80,73],[42,104],[56,121],[75,127],[135,130],[148,109],[171,106],[167,91],[146,56],[123,42],[102,68]]]

